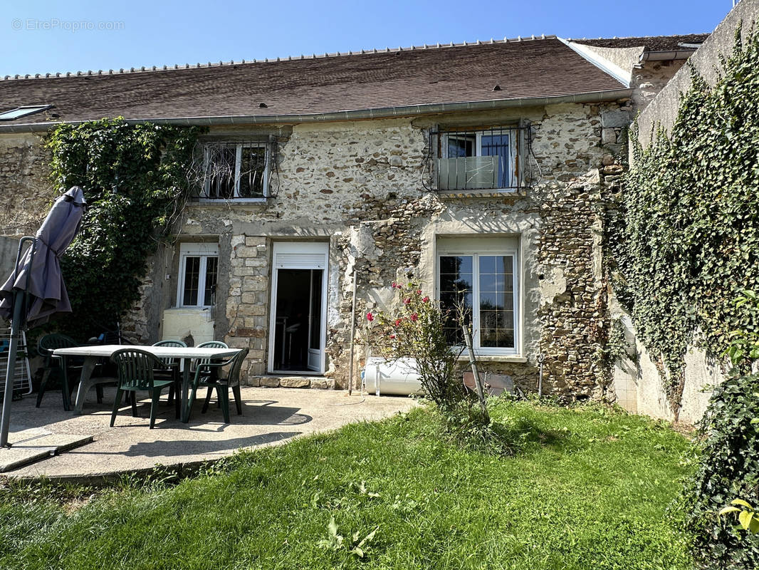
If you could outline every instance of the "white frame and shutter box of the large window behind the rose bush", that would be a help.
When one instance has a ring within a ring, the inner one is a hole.
[[[519,265],[518,238],[503,237],[442,237],[437,244],[435,289],[440,298],[440,258],[454,255],[471,256],[472,258],[472,345],[474,353],[483,356],[518,355],[520,353],[520,288],[521,270]],[[512,257],[512,278],[514,296],[514,347],[481,347],[480,345],[480,255],[507,255]],[[454,347],[460,350],[462,347]]]

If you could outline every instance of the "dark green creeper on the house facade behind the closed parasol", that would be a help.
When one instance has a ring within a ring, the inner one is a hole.
[[[60,125],[49,135],[50,176],[79,185],[88,208],[61,268],[73,315],[58,328],[88,337],[112,327],[139,299],[146,260],[187,197],[200,129],[102,119]]]

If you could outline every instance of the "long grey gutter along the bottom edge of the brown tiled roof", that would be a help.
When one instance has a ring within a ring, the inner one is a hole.
[[[376,109],[356,109],[351,111],[291,114],[291,115],[230,115],[200,117],[166,117],[162,119],[125,119],[129,125],[150,122],[156,125],[271,125],[280,123],[335,122],[361,119],[392,119],[395,117],[433,115],[443,112],[487,111],[513,109],[518,107],[556,105],[557,103],[600,103],[630,97],[628,88],[593,91],[555,97],[523,97],[521,99],[474,101],[469,103],[434,103],[430,105],[409,105],[378,107]],[[55,121],[43,123],[22,123],[0,125],[0,133],[45,132],[58,125],[81,125],[96,119],[84,121]]]

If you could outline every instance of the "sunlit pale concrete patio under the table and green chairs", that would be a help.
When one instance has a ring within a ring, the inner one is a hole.
[[[5,477],[49,477],[56,480],[95,481],[119,473],[140,473],[156,464],[191,470],[243,448],[261,448],[338,429],[347,423],[379,420],[414,407],[408,397],[348,396],[345,391],[297,388],[243,388],[243,414],[223,423],[222,412],[212,401],[207,413],[196,402],[190,423],[175,420],[174,407],[163,398],[155,429],[148,429],[150,404],[138,406],[140,417],[122,407],[114,427],[109,427],[113,388],[106,388],[102,404],[91,391],[80,416],[63,410],[60,391],[45,394],[34,407],[34,394],[13,403],[10,441],[51,434],[52,439],[72,441],[92,436],[93,441],[62,451],[14,470]],[[205,395],[205,391],[203,391]],[[199,394],[200,396],[200,394]],[[26,431],[25,431],[26,430]],[[30,440],[34,442],[34,439]],[[12,448],[11,448],[12,449]],[[2,454],[11,450],[0,450]]]

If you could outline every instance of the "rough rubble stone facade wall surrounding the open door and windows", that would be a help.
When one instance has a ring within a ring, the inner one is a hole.
[[[620,117],[631,103],[555,105],[427,119],[293,125],[279,138],[276,198],[266,204],[196,204],[181,239],[219,236],[229,252],[228,283],[217,315],[219,337],[247,347],[252,383],[266,377],[272,244],[278,240],[330,245],[326,380],[286,379],[287,385],[348,383],[351,286],[356,315],[386,306],[389,283],[405,268],[434,293],[436,236],[491,234],[521,240],[521,347],[517,356],[486,359],[524,391],[537,383],[537,354],[546,358],[546,392],[569,398],[611,396],[597,353],[607,328],[600,255],[599,203],[626,156]],[[521,119],[533,133],[528,192],[453,198],[424,188],[430,126],[503,124]],[[602,143],[603,135],[603,143]],[[361,236],[359,237],[359,234]],[[361,245],[357,246],[357,243]],[[358,321],[359,332],[361,321]],[[355,351],[356,375],[364,358]],[[293,384],[294,382],[294,384]],[[357,386],[354,378],[354,386]]]

